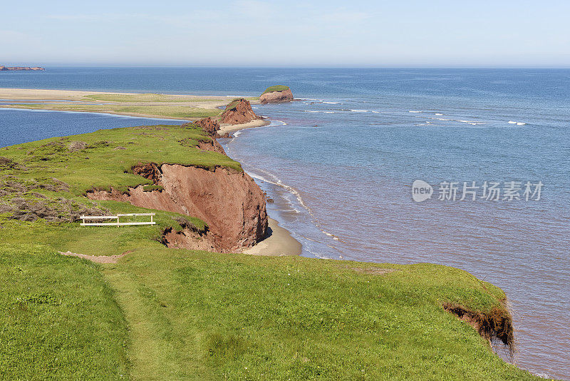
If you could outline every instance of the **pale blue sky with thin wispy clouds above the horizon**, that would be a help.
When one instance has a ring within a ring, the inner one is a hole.
[[[0,65],[570,67],[570,1],[4,1]]]

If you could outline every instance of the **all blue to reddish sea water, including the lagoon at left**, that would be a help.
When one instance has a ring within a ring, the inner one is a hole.
[[[507,293],[514,362],[570,378],[570,70],[0,73],[0,88],[257,96],[277,83],[299,101],[254,106],[271,125],[221,143],[274,199],[269,215],[303,255],[466,270]],[[0,109],[0,146],[153,123],[165,122]],[[430,198],[415,200],[415,181]]]

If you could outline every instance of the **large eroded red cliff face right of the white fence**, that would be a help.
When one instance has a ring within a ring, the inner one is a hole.
[[[165,239],[174,243],[174,247],[211,247],[220,252],[233,252],[249,248],[264,238],[268,222],[264,194],[247,173],[222,167],[209,171],[178,164],[159,167],[152,163],[135,166],[133,171],[149,176],[163,190],[145,192],[138,186],[129,188],[126,193],[92,191],[87,194],[88,198],[118,200],[142,208],[192,215],[207,223],[207,237],[199,247],[192,245],[199,241],[192,232],[183,237],[165,232],[171,233],[165,235]]]

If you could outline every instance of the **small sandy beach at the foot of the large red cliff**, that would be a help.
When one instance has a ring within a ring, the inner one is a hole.
[[[301,243],[291,236],[289,230],[281,228],[276,220],[269,218],[266,238],[253,248],[244,250],[251,255],[301,255]]]

